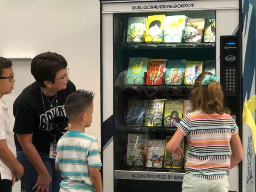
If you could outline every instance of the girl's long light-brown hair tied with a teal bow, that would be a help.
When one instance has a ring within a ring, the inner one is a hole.
[[[212,73],[204,72],[195,80],[195,84],[190,93],[189,100],[192,105],[192,111],[202,110],[206,113],[228,113],[230,110],[224,107],[224,94],[221,85],[217,81],[210,82],[208,85],[202,85],[205,75]]]

